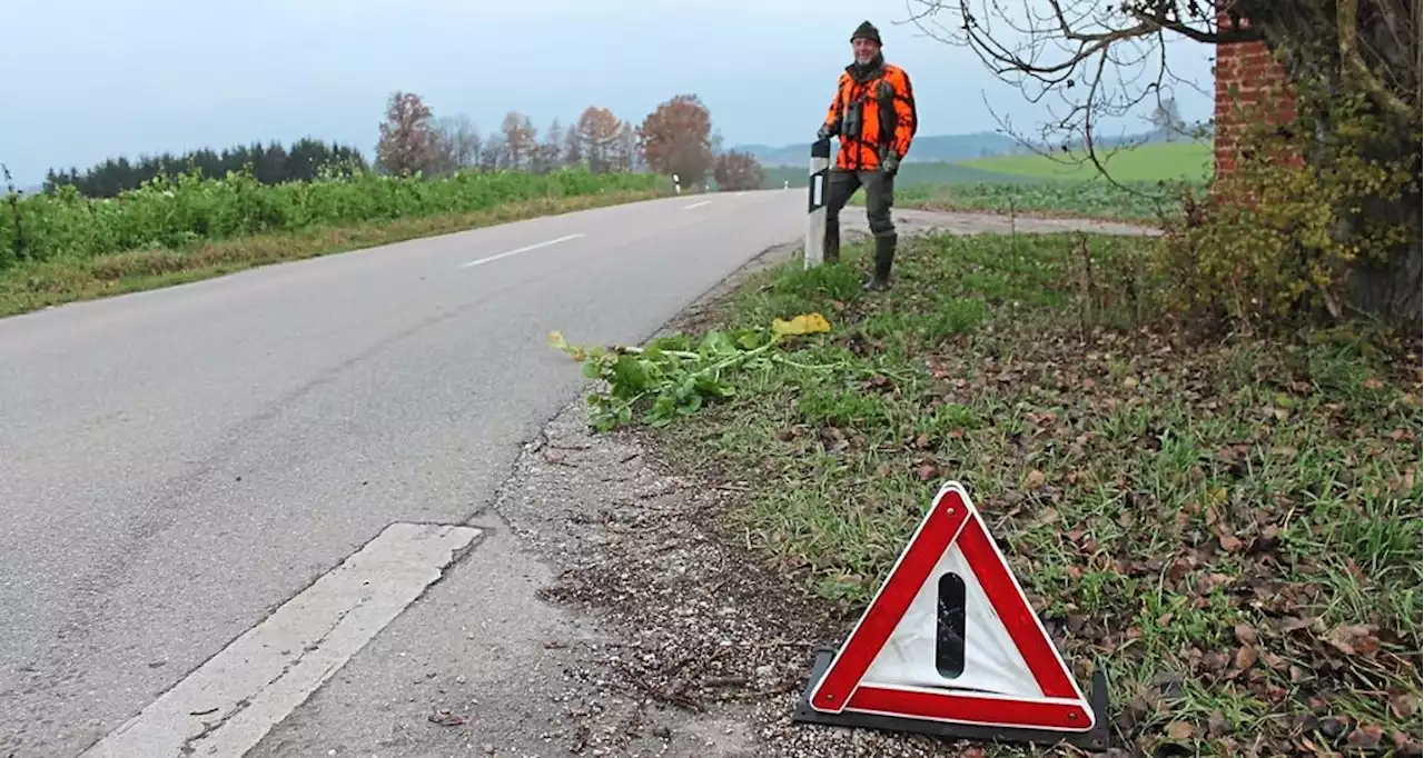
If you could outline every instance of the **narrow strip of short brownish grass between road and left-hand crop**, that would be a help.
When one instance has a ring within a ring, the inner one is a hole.
[[[393,242],[464,232],[514,220],[605,208],[659,196],[659,191],[518,201],[468,213],[402,218],[356,225],[312,226],[290,232],[198,242],[100,256],[56,256],[0,270],[0,317],[78,300],[168,287],[245,269]]]

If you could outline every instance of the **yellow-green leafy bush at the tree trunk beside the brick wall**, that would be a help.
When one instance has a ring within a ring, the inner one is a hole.
[[[1182,310],[1245,326],[1350,310],[1351,273],[1420,233],[1396,209],[1417,196],[1418,155],[1363,94],[1297,87],[1300,115],[1273,124],[1243,105],[1240,155],[1205,202],[1189,201],[1159,257]],[[1329,122],[1320,132],[1316,122]],[[1319,134],[1329,134],[1326,138]]]

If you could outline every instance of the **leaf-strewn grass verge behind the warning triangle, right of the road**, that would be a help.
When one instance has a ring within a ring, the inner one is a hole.
[[[1151,245],[909,237],[886,294],[862,246],[770,269],[709,329],[832,331],[652,439],[745,491],[725,536],[847,624],[965,482],[1079,681],[1106,668],[1131,754],[1424,749],[1418,346],[1189,334]]]

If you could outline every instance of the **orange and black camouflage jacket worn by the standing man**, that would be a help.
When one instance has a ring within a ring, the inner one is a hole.
[[[859,129],[853,117],[846,119],[857,107]],[[918,128],[910,75],[897,65],[881,63],[857,78],[854,65],[847,65],[836,82],[836,98],[826,110],[824,124],[840,137],[837,168],[873,171],[886,152],[903,159]]]

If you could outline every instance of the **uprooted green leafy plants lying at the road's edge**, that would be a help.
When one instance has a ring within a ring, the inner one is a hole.
[[[635,408],[645,404],[641,421],[665,427],[678,417],[693,415],[709,401],[736,394],[731,375],[738,370],[783,364],[805,370],[834,368],[793,361],[782,348],[793,337],[830,331],[819,313],[775,319],[768,327],[711,331],[696,343],[686,334],[672,334],[645,347],[571,346],[558,331],[548,336],[550,347],[584,364],[584,375],[608,384],[607,393],[590,393],[592,425],[612,431],[634,421]]]

